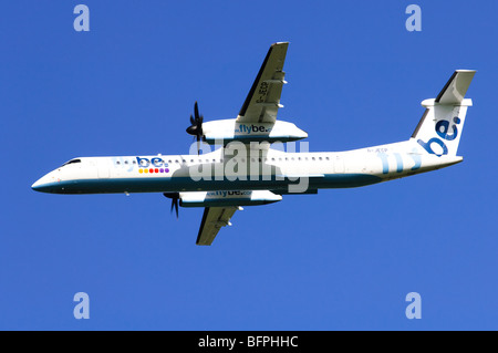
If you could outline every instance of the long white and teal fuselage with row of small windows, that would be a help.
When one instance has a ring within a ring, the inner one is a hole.
[[[310,193],[376,184],[443,168],[461,157],[424,153],[413,139],[349,152],[81,157],[50,172],[33,189],[55,194],[279,190]]]

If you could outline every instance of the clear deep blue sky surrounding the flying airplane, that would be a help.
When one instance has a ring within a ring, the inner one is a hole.
[[[90,32],[73,8],[90,8]],[[0,21],[0,329],[497,330],[496,1],[9,1]],[[160,194],[31,184],[76,156],[180,154],[194,102],[235,117],[290,41],[279,118],[310,150],[406,139],[475,69],[450,168],[246,207],[212,247]],[[486,133],[483,135],[483,133]],[[73,295],[90,297],[90,319]],[[422,297],[422,319],[405,295]]]

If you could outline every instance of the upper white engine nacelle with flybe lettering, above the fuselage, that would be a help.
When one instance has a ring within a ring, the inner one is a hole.
[[[203,123],[206,143],[226,145],[232,141],[242,143],[274,142],[287,143],[307,138],[308,133],[292,123],[277,121],[274,123],[239,123],[236,118]]]

